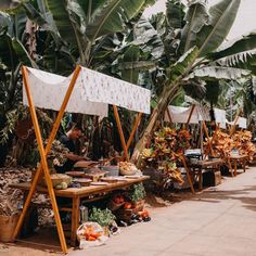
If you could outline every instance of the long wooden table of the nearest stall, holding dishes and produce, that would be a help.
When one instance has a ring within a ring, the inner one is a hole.
[[[68,188],[66,190],[54,190],[55,196],[57,197],[66,197],[72,200],[72,208],[60,208],[61,210],[66,210],[72,213],[72,231],[71,231],[71,244],[73,246],[76,245],[76,230],[79,227],[79,206],[80,200],[86,199],[88,196],[98,195],[102,193],[107,193],[118,189],[127,189],[132,184],[140,183],[150,179],[149,176],[142,176],[139,178],[130,179],[127,178],[125,181],[118,181],[116,183],[108,183],[104,185],[89,185],[82,188]],[[10,185],[13,189],[20,189],[24,192],[24,196],[27,195],[27,192],[30,190],[30,183],[16,183]],[[37,187],[37,193],[48,194],[47,188]]]

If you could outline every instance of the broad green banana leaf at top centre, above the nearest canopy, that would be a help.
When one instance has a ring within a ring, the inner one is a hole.
[[[101,36],[121,31],[125,22],[135,17],[145,4],[145,0],[106,0],[92,14],[86,35],[91,42]]]

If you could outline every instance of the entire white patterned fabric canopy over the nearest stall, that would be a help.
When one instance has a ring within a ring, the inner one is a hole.
[[[59,111],[73,74],[63,77],[34,68],[27,69],[34,104]],[[25,89],[23,90],[23,102],[27,105]],[[82,67],[66,111],[107,116],[107,104],[115,104],[150,114],[150,90]]]

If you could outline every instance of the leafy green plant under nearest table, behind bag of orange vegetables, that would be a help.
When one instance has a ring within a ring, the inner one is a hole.
[[[100,209],[93,207],[91,214],[89,216],[89,220],[93,222],[98,222],[105,232],[105,235],[108,234],[108,227],[115,220],[115,216],[112,214],[110,209]]]

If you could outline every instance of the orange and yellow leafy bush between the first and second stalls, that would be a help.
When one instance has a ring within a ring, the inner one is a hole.
[[[154,133],[150,149],[142,152],[146,166],[153,166],[166,175],[167,179],[183,182],[177,162],[179,155],[190,148],[188,130],[164,127]]]

